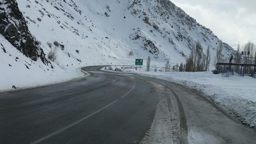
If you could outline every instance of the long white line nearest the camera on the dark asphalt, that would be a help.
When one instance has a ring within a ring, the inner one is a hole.
[[[85,119],[87,119],[87,118],[90,118],[91,116],[95,115],[96,113],[98,113],[98,112],[100,112],[100,111],[106,109],[107,107],[111,106],[111,105],[114,104],[115,102],[117,102],[117,100],[115,100],[114,102],[111,102],[111,103],[108,104],[107,106],[104,106],[103,108],[101,108],[101,109],[95,111],[94,113],[91,113],[90,115],[88,115],[88,116],[82,118],[81,120],[78,120],[78,121],[76,121],[75,123],[72,123],[71,125],[68,125],[68,126],[62,128],[62,129],[60,129],[60,130],[58,130],[58,131],[56,131],[56,132],[51,133],[50,135],[47,135],[47,136],[45,136],[45,137],[43,137],[43,138],[41,138],[41,139],[38,139],[37,141],[32,142],[31,144],[37,144],[37,143],[39,143],[39,142],[42,142],[43,140],[48,139],[49,137],[52,137],[53,135],[56,135],[56,134],[58,134],[59,132],[62,132],[62,131],[64,131],[64,130],[68,129],[69,127],[72,127],[72,126],[74,126],[74,125],[80,123],[81,121],[83,121],[83,120],[85,120]]]

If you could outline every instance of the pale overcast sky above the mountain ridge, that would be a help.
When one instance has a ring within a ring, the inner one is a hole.
[[[231,47],[256,43],[256,0],[171,0]]]

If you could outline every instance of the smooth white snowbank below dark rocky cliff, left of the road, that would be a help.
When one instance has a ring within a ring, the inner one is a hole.
[[[58,83],[83,75],[75,67],[62,70],[56,64],[52,66],[53,69],[41,59],[33,61],[25,57],[0,34],[0,92]],[[12,88],[13,85],[17,89]]]

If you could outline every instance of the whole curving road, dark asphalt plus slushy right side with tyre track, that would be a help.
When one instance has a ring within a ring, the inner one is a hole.
[[[256,142],[254,129],[197,92],[164,80],[98,68],[83,68],[92,73],[90,78],[0,94],[0,143],[138,143],[163,95],[169,112],[178,113],[178,135],[170,136],[176,139],[170,144],[203,139],[193,141],[192,133],[205,137],[202,143]]]

